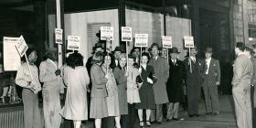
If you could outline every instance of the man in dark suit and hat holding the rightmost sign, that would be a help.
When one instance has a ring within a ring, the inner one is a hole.
[[[187,112],[189,117],[199,116],[198,107],[202,84],[202,63],[196,58],[197,48],[191,48],[188,59],[185,59],[187,72]]]

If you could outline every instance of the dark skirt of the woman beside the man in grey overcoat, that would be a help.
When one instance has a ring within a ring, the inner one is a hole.
[[[141,102],[136,104],[136,109],[155,109],[155,95],[151,84],[144,83],[139,89],[139,94]]]

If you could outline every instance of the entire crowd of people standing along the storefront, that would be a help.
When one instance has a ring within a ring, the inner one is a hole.
[[[219,114],[220,68],[219,60],[212,58],[212,48],[206,48],[205,59],[197,58],[197,47],[191,48],[185,60],[179,59],[178,48],[161,48],[160,52],[156,43],[144,51],[133,48],[129,54],[123,53],[120,47],[112,52],[104,49],[101,43],[96,43],[86,66],[80,53],[70,53],[61,69],[53,51],[46,53],[37,69],[34,64],[37,51],[28,49],[27,63],[16,74],[16,84],[24,88],[25,127],[37,128],[40,120],[34,89],[41,87],[41,83],[46,128],[59,128],[61,117],[72,120],[74,128],[80,128],[81,121],[89,119],[94,119],[96,128],[132,128],[135,120],[139,120],[140,127],[151,126],[163,122],[163,106],[166,106],[167,122],[179,121],[182,119],[178,109],[184,102],[188,116],[198,117],[201,89],[206,114]],[[237,43],[235,48],[238,57],[234,63],[232,92],[239,128],[252,126],[251,85],[256,84],[253,50],[243,43]],[[67,87],[62,108],[61,82]]]

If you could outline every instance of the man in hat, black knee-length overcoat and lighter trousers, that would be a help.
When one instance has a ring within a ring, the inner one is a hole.
[[[179,102],[184,101],[183,83],[186,79],[186,70],[184,62],[177,59],[178,49],[176,47],[170,50],[169,59],[169,79],[166,83],[166,90],[168,94],[169,103],[167,103],[167,122],[178,119]]]

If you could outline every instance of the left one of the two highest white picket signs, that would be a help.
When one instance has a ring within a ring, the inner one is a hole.
[[[101,40],[113,40],[113,27],[101,27]]]

